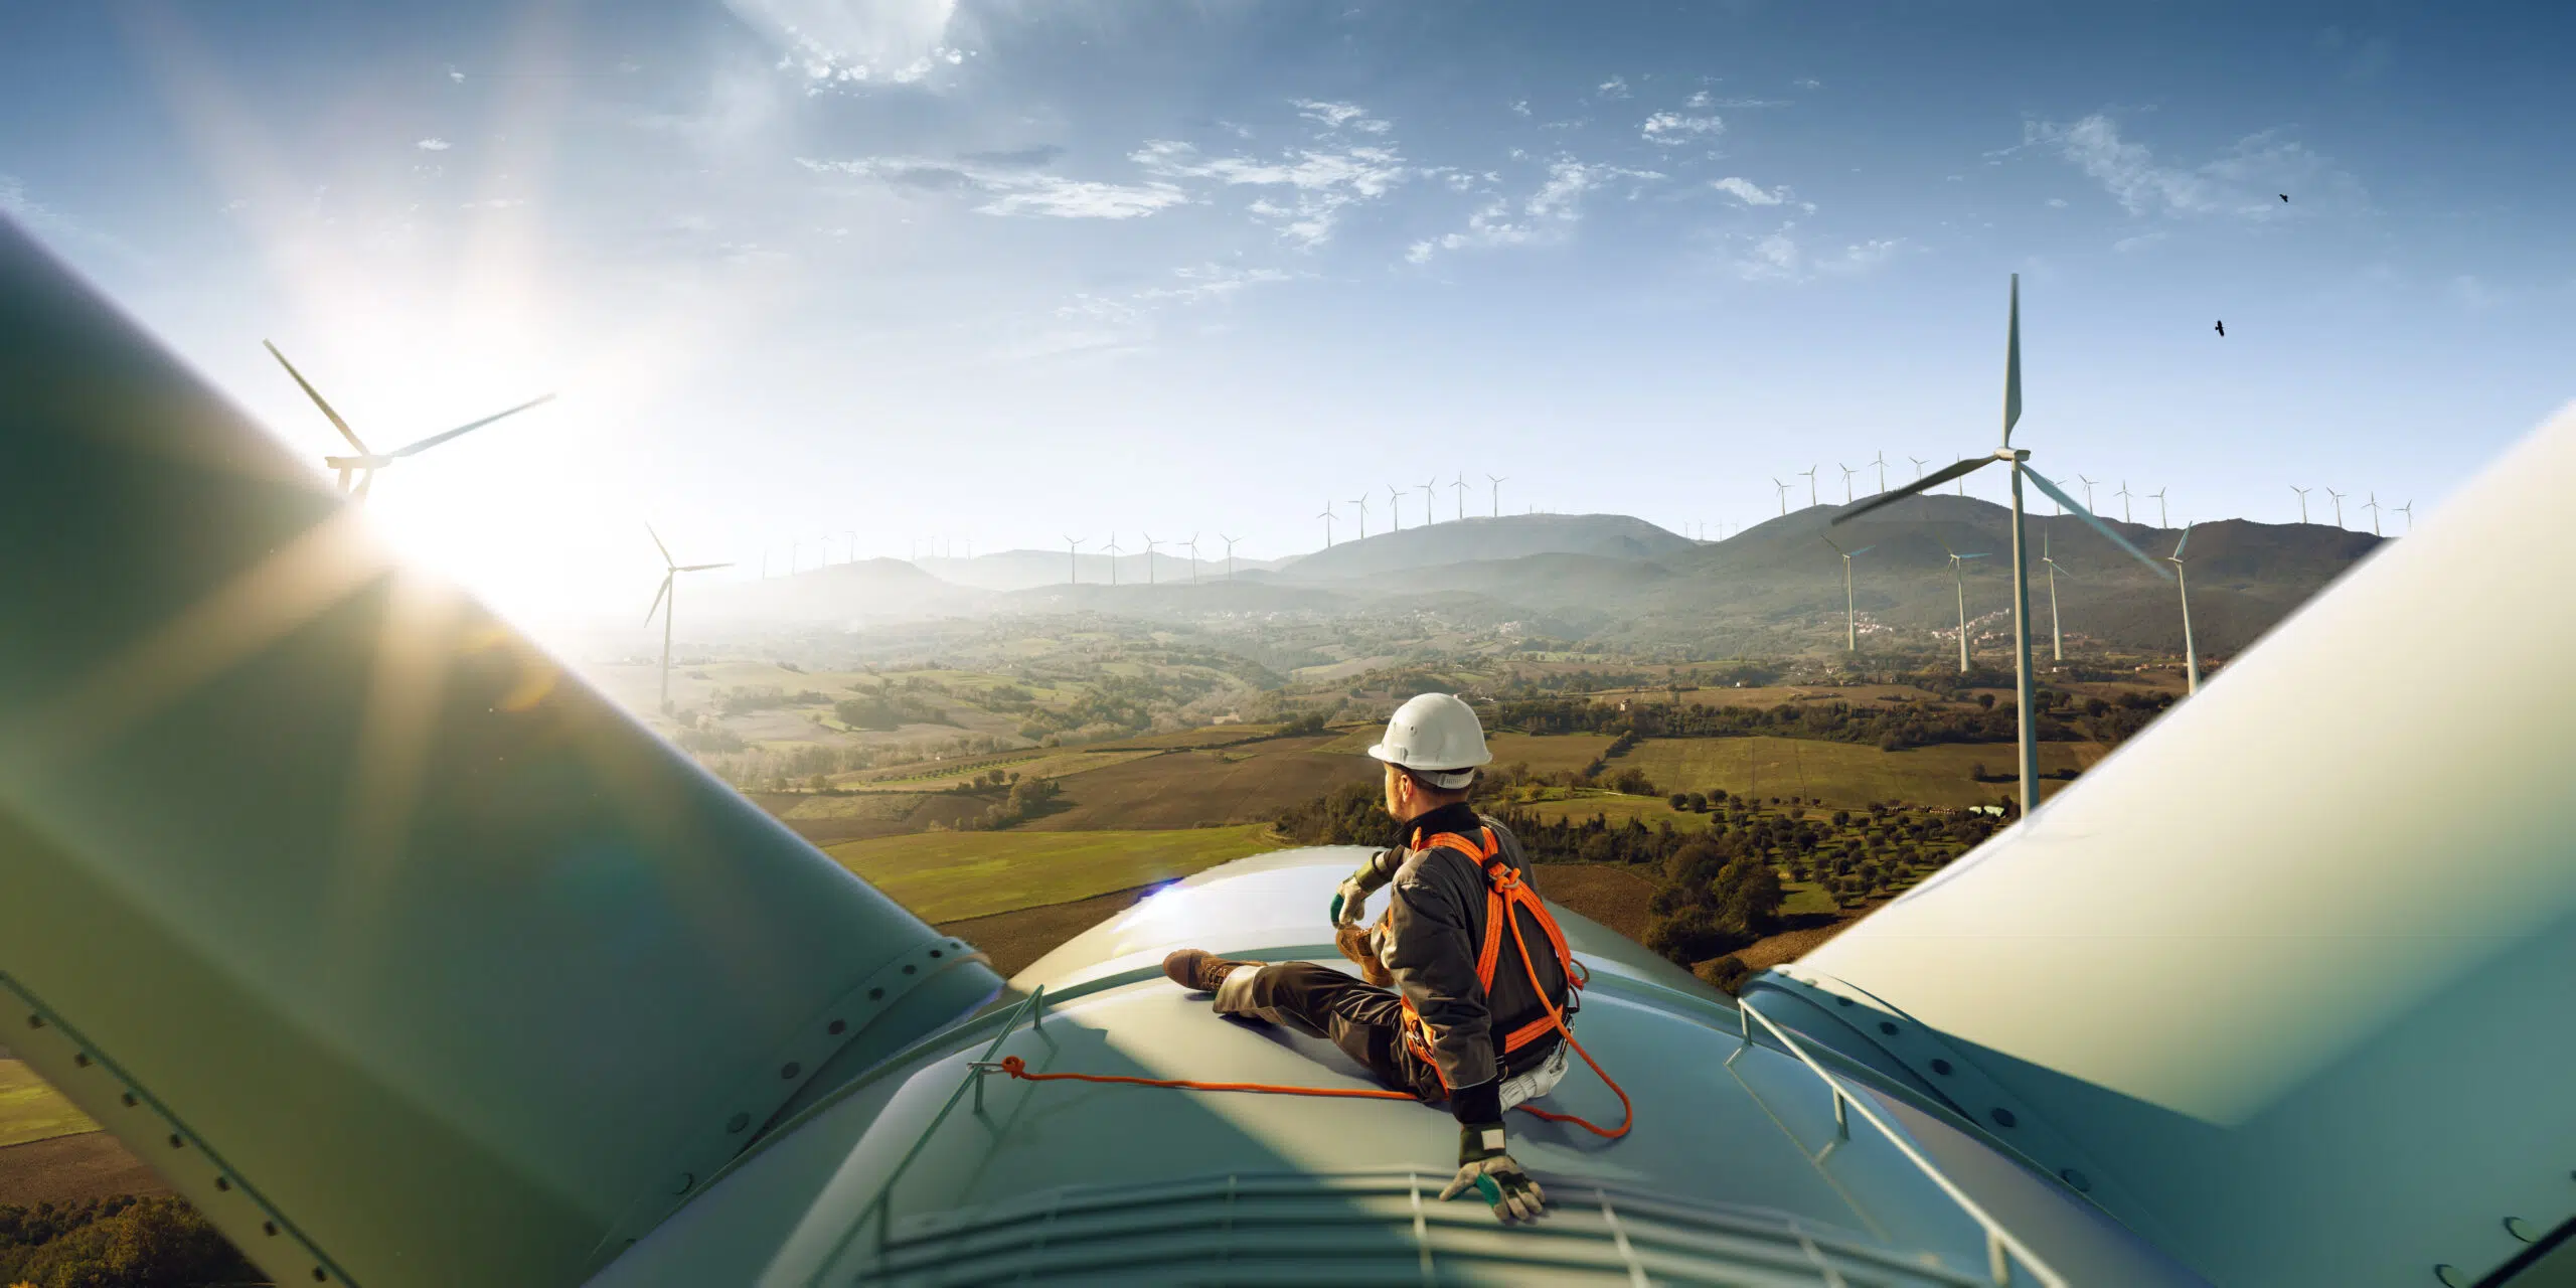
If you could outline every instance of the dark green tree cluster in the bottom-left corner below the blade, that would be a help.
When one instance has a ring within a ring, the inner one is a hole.
[[[180,1198],[0,1203],[0,1283],[36,1288],[188,1288],[268,1283]]]

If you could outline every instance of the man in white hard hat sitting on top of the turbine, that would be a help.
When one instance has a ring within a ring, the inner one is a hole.
[[[1448,1100],[1458,1177],[1440,1198],[1473,1188],[1504,1224],[1530,1221],[1546,1193],[1512,1162],[1502,1115],[1566,1077],[1564,935],[1538,904],[1520,840],[1466,804],[1476,765],[1494,760],[1476,708],[1422,693],[1396,708],[1368,755],[1386,762],[1386,811],[1401,840],[1360,863],[1329,909],[1342,953],[1368,981],[1311,961],[1265,966],[1200,948],[1167,956],[1162,969],[1180,987],[1213,992],[1218,1015],[1327,1038],[1386,1084],[1427,1105]],[[1386,914],[1360,925],[1363,904],[1386,886]],[[1512,935],[1520,953],[1489,943]],[[1481,963],[1492,966],[1479,974]]]

